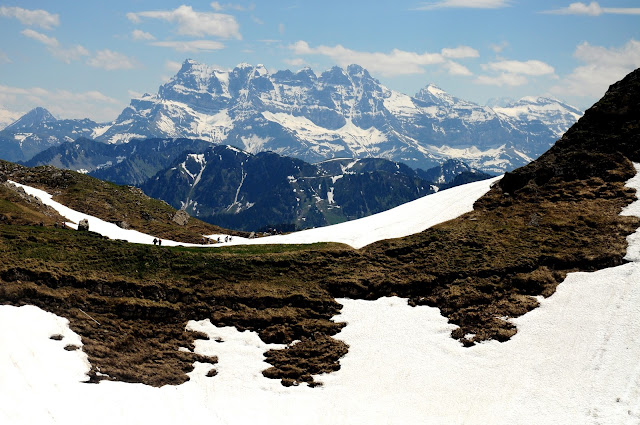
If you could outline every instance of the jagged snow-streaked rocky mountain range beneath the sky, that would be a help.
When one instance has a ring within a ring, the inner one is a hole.
[[[157,94],[132,99],[114,122],[83,122],[60,142],[188,137],[307,162],[382,157],[430,168],[456,158],[503,172],[546,151],[581,115],[542,97],[492,109],[433,85],[412,97],[383,86],[358,65],[320,75],[310,68],[271,74],[263,65],[222,71],[187,60]],[[15,130],[10,126],[3,138],[37,135]]]

